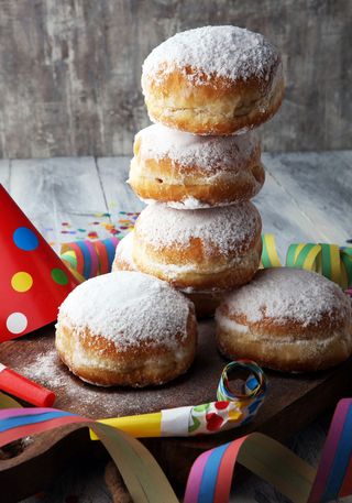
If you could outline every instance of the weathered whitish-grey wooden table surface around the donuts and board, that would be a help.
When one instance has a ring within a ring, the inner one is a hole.
[[[346,244],[352,238],[352,151],[263,154],[263,162],[266,182],[254,203],[264,232],[276,234],[282,259],[292,242]],[[3,160],[0,183],[58,249],[61,242],[79,237],[77,229],[94,229],[100,238],[107,237],[109,232],[97,223],[117,221],[121,210],[143,208],[124,183],[128,166],[129,157]],[[319,460],[329,418],[317,420],[292,439],[290,447],[312,464]],[[101,467],[69,469],[41,501],[58,503],[69,493],[79,494],[79,503],[111,501]],[[251,477],[233,491],[231,501],[286,500]]]

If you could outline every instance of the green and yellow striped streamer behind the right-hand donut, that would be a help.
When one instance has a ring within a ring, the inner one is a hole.
[[[280,267],[275,237],[263,234],[262,267]],[[352,248],[327,243],[294,243],[288,247],[286,266],[316,271],[342,288],[352,284]]]

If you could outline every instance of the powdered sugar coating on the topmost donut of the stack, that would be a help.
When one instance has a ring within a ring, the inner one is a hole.
[[[142,87],[145,92],[144,80],[163,81],[175,68],[195,85],[207,84],[212,76],[267,80],[278,58],[260,33],[230,25],[197,28],[177,33],[151,52],[143,64]]]

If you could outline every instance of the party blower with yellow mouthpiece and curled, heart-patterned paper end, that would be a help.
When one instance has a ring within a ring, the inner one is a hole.
[[[243,393],[230,389],[237,372],[250,373]],[[230,362],[220,378],[217,402],[164,409],[152,414],[100,419],[99,423],[119,428],[138,438],[190,437],[216,434],[249,423],[257,413],[266,393],[266,378],[262,369],[251,360]],[[91,438],[97,436],[91,433]]]

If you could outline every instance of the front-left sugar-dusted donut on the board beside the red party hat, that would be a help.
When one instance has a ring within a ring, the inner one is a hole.
[[[147,386],[177,378],[196,352],[194,305],[167,283],[136,272],[81,283],[59,308],[55,345],[82,381]]]

